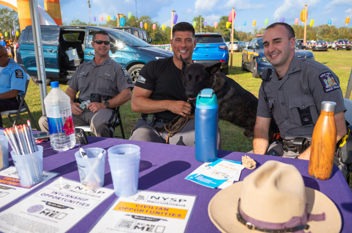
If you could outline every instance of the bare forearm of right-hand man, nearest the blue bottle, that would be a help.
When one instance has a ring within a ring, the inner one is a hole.
[[[256,124],[254,125],[254,136],[253,136],[253,153],[259,155],[265,155],[266,149],[269,145],[269,127],[271,118],[258,117]]]

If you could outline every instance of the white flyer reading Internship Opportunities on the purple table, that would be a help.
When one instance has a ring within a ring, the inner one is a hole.
[[[0,212],[0,232],[67,232],[113,193],[84,190],[80,182],[59,177]]]

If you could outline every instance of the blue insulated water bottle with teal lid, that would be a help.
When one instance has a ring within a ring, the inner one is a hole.
[[[200,162],[218,159],[218,119],[218,99],[214,90],[201,90],[195,110],[195,152],[196,159]]]

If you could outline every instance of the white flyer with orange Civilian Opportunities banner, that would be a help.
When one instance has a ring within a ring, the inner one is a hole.
[[[184,232],[195,200],[196,196],[152,191],[119,197],[90,232]]]

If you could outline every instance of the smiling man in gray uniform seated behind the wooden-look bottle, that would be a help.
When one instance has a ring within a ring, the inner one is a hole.
[[[336,141],[346,135],[346,108],[339,79],[325,65],[295,56],[295,32],[288,24],[274,23],[267,27],[263,34],[263,45],[264,55],[275,69],[259,89],[253,152],[309,159],[310,141],[322,101],[337,103]],[[272,117],[283,141],[269,145],[268,132]],[[293,140],[298,137],[302,139],[302,150],[293,146]]]

